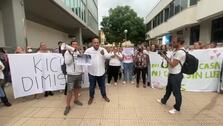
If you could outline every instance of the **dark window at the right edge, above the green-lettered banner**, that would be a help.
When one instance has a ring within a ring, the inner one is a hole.
[[[211,41],[223,42],[223,17],[212,21]]]

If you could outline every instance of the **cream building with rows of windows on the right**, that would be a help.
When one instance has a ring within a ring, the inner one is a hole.
[[[161,43],[167,34],[186,44],[223,42],[222,0],[160,0],[146,16],[146,39]]]

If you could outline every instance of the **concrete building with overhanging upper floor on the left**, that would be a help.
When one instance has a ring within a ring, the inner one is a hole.
[[[0,0],[0,46],[37,48],[98,35],[97,0]]]

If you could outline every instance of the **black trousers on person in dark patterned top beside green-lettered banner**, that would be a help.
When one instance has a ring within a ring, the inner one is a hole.
[[[142,73],[142,80],[143,84],[146,84],[146,74],[147,74],[147,67],[146,68],[135,68],[136,71],[136,82],[139,84],[140,75]]]

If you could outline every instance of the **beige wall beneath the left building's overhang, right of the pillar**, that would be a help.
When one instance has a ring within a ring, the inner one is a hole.
[[[68,34],[53,28],[26,20],[29,46],[38,48],[40,42],[46,42],[49,48],[56,48],[58,41],[69,42]]]

